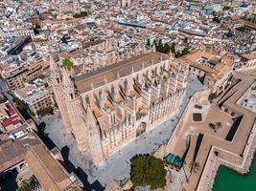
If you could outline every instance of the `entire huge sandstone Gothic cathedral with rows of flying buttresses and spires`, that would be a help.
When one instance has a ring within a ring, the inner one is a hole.
[[[66,133],[96,165],[175,115],[186,72],[163,53],[143,53],[78,76],[51,59],[53,88]]]

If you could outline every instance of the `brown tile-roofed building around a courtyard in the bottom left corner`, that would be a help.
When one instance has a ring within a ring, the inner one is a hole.
[[[81,191],[81,181],[61,166],[33,132],[20,138],[0,141],[1,176],[14,172],[23,180],[22,172],[30,172],[45,191]],[[18,183],[21,183],[20,180]]]

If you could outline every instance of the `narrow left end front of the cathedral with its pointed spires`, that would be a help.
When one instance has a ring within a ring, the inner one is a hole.
[[[84,108],[78,95],[71,74],[66,69],[59,69],[53,57],[50,58],[53,89],[58,109],[64,123],[65,133],[72,133],[79,150],[90,153],[96,164],[104,161],[102,134],[91,108]]]

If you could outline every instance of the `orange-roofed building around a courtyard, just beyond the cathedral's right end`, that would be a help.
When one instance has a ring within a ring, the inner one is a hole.
[[[188,53],[175,61],[185,67],[190,76],[197,76],[215,93],[220,93],[226,88],[226,79],[230,77],[234,67],[234,61],[228,55],[202,50]]]

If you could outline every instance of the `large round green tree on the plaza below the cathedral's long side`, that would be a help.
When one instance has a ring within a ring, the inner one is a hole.
[[[164,161],[153,156],[139,156],[131,159],[130,180],[133,188],[150,185],[151,189],[166,185]]]

